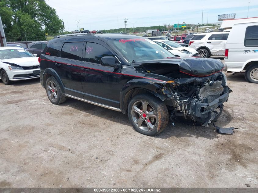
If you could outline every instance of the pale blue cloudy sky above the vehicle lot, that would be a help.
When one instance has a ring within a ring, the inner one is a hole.
[[[202,23],[202,0],[46,0],[64,21],[65,30],[109,30],[175,23]],[[257,0],[204,0],[203,23],[217,22],[220,14],[236,19],[258,17]],[[79,22],[77,22],[77,21]],[[79,24],[79,25],[78,25]]]

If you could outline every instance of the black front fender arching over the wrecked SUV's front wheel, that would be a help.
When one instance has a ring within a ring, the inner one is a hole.
[[[126,104],[125,104],[125,98],[129,91],[132,91],[134,89],[144,89],[153,95],[160,98],[162,101],[166,99],[165,95],[162,93],[162,89],[165,86],[166,82],[161,81],[153,81],[148,79],[133,79],[127,82],[121,92],[120,92],[120,109],[125,110]]]

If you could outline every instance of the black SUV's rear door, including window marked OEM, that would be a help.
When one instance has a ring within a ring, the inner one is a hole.
[[[54,60],[54,68],[64,84],[65,93],[80,98],[83,98],[80,78],[82,50],[83,39],[67,39]]]

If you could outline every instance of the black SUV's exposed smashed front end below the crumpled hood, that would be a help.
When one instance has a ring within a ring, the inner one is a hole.
[[[163,87],[163,93],[172,99],[172,118],[191,119],[206,127],[219,118],[230,92],[223,72],[180,78]]]

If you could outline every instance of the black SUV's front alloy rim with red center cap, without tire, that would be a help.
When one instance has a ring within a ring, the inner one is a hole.
[[[157,124],[154,108],[146,101],[136,101],[131,114],[134,124],[143,131],[151,131]]]

